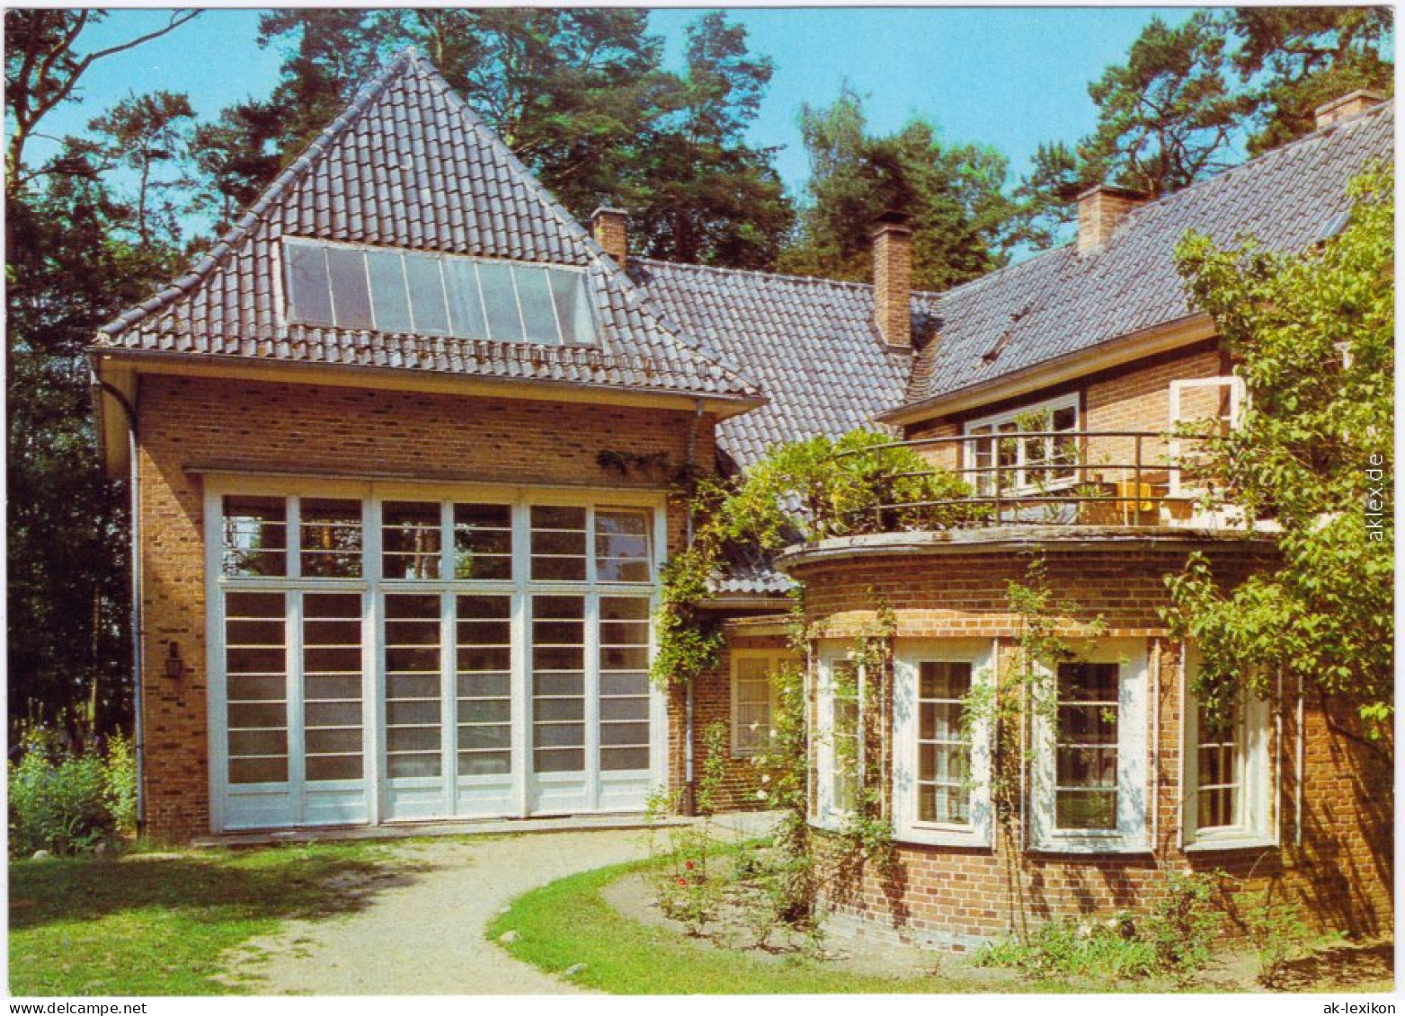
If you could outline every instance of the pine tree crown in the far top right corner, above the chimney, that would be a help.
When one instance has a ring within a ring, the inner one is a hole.
[[[1390,7],[1236,7],[1227,20],[1253,102],[1250,154],[1312,133],[1314,111],[1349,91],[1395,91]]]

